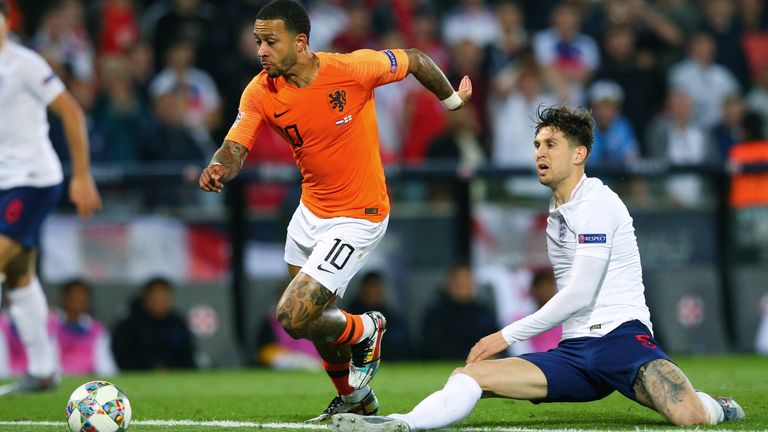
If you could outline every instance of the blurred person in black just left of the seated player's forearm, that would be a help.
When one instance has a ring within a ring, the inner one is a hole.
[[[496,328],[493,312],[476,298],[472,269],[455,264],[422,319],[422,356],[460,360],[477,340]]]

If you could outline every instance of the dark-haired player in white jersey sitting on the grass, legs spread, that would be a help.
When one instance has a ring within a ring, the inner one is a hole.
[[[469,416],[483,395],[534,403],[587,402],[619,391],[675,425],[745,416],[733,399],[695,391],[654,340],[632,218],[618,195],[584,174],[593,140],[589,113],[551,107],[538,116],[536,173],[552,189],[547,253],[557,294],[535,313],[482,338],[467,365],[411,412],[338,414],[331,430],[440,428]],[[489,360],[561,323],[563,339],[557,348]]]

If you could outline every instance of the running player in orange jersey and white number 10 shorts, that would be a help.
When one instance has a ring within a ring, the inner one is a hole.
[[[352,315],[336,306],[389,221],[373,90],[412,73],[455,110],[469,101],[472,84],[464,77],[455,91],[416,49],[313,52],[309,33],[299,3],[276,0],[259,11],[254,36],[264,70],[243,92],[237,118],[199,185],[220,192],[265,125],[291,145],[303,182],[285,245],[292,280],[277,317],[291,336],[314,342],[338,391],[313,419],[322,421],[378,411],[368,382],[379,366],[386,320],[375,311]]]

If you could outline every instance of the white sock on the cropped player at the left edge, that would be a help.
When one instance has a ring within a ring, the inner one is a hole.
[[[37,277],[29,285],[8,290],[10,315],[27,351],[27,372],[46,378],[56,372],[56,359],[48,336],[48,303]]]

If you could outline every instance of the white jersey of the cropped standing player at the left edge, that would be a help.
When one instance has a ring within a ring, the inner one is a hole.
[[[62,181],[48,138],[47,107],[64,84],[37,53],[6,40],[0,49],[0,189]]]

